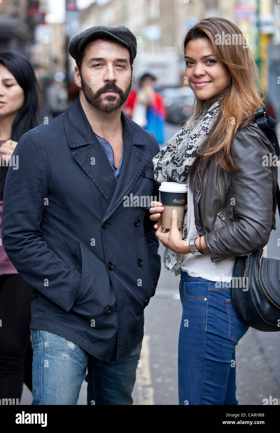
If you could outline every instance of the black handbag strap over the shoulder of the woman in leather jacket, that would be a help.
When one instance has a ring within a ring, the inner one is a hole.
[[[270,143],[274,147],[275,153],[278,157],[278,161],[280,161],[280,147],[274,129],[275,126],[277,125],[276,120],[274,120],[273,117],[268,116],[264,107],[260,107],[257,110],[254,110],[254,120],[257,123],[257,126],[266,133],[267,138],[269,139]],[[280,188],[278,183],[276,189],[276,201],[277,201],[278,212],[280,216]]]

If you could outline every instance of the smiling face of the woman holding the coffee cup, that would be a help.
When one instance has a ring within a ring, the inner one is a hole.
[[[184,60],[186,77],[197,99],[207,101],[228,86],[229,71],[214,54],[208,38],[189,41],[186,45]],[[208,108],[211,105],[212,102],[207,103]]]

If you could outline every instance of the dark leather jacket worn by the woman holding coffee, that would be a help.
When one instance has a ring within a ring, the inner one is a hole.
[[[195,225],[212,262],[263,248],[276,229],[278,168],[263,164],[264,155],[270,153],[275,155],[273,146],[252,122],[232,139],[232,155],[241,171],[224,171],[217,159],[203,176],[198,167],[193,187]]]

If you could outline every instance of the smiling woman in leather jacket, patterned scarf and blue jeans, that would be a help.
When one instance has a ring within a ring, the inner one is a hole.
[[[264,92],[241,30],[227,19],[201,19],[183,49],[194,107],[153,162],[158,184],[188,184],[187,211],[180,230],[175,212],[162,233],[160,202],[150,219],[167,248],[165,268],[181,275],[179,404],[238,404],[235,346],[248,326],[232,303],[232,269],[236,256],[266,246],[276,229],[277,167],[263,165],[275,152],[254,122]]]

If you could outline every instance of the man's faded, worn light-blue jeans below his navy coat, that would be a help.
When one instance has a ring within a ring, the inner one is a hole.
[[[119,361],[101,361],[56,334],[31,329],[32,404],[77,404],[88,367],[87,404],[132,404],[142,343]]]

